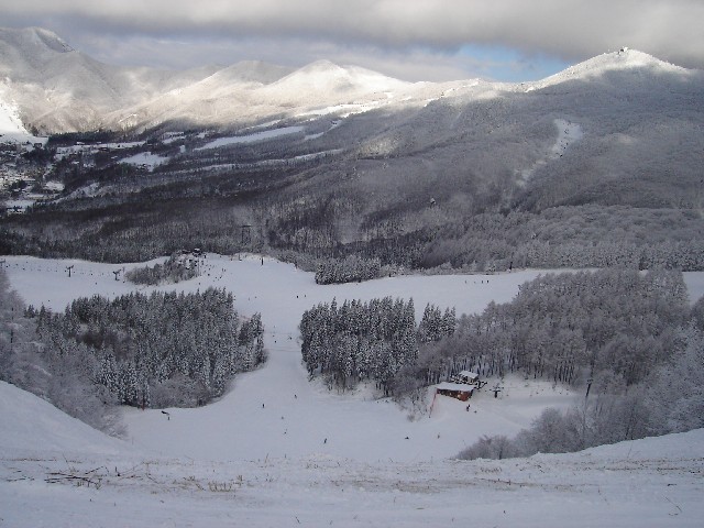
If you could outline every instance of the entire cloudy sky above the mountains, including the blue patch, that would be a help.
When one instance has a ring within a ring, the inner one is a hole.
[[[0,0],[120,65],[354,64],[404,80],[535,80],[627,46],[704,69],[704,0]]]

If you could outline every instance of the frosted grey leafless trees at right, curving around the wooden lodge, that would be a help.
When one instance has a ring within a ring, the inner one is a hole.
[[[606,270],[547,275],[522,285],[514,301],[463,317],[435,351],[442,358],[436,366],[451,372],[469,355],[479,372],[547,377],[585,397],[568,413],[547,409],[514,439],[483,438],[460,457],[576,451],[704,427],[703,310],[703,300],[690,309],[676,272]]]

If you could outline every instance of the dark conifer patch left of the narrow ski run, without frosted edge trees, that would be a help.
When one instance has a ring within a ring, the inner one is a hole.
[[[30,307],[28,315],[59,358],[77,348],[89,351],[91,382],[123,405],[205,405],[238,372],[265,360],[260,316],[238,317],[232,294],[215,288],[94,296],[74,300],[63,314]]]

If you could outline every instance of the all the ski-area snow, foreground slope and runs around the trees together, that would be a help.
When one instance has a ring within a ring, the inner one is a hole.
[[[138,289],[114,279],[122,265],[6,261],[13,287],[37,307]],[[475,312],[509,300],[539,272],[318,286],[311,274],[258,256],[208,255],[202,270],[162,289],[232,290],[241,314],[262,314],[267,364],[204,408],[125,409],[125,440],[0,384],[0,527],[701,526],[704,431],[568,455],[455,461],[482,435],[514,435],[575,396],[512,377],[496,399],[486,388],[475,394],[469,411],[439,396],[429,416],[369,388],[330,393],[300,363],[297,324],[319,301],[391,295],[413,297],[418,318],[427,302]],[[697,298],[701,274],[685,280]]]

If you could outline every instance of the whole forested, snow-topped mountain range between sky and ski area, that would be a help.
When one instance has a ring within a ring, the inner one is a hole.
[[[0,219],[4,253],[134,262],[202,246],[307,270],[355,254],[433,273],[704,267],[698,70],[624,50],[519,84],[403,82],[326,61],[130,77],[36,36],[4,34],[16,75],[0,98],[25,131],[52,135],[10,147],[6,186],[64,190]],[[63,80],[81,84],[80,107],[63,99],[32,117],[23,82],[47,81],[30,52],[96,75]],[[105,90],[86,91],[100,82],[117,94],[108,107]]]

